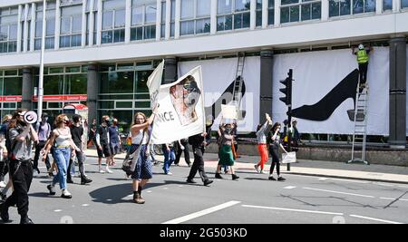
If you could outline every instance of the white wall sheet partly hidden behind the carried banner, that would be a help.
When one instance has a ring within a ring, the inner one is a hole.
[[[206,115],[214,117],[213,130],[218,129],[221,118],[221,105],[232,101],[233,84],[236,79],[238,58],[215,59],[179,63],[179,75],[201,66],[204,85],[204,105]],[[259,120],[259,80],[260,57],[246,57],[243,71],[244,86],[239,103],[243,119],[238,120],[238,132],[251,132],[257,129]],[[238,115],[240,116],[240,115]]]

